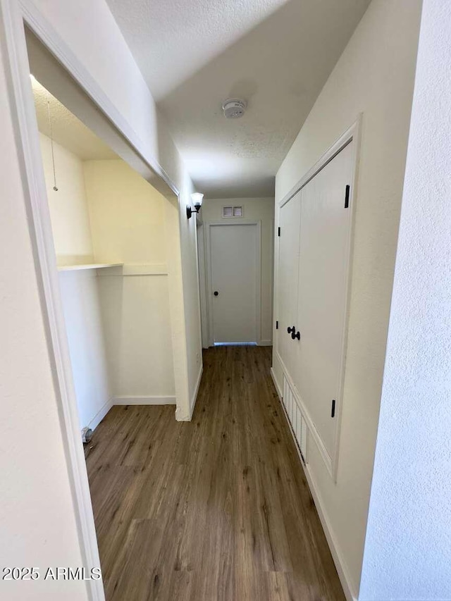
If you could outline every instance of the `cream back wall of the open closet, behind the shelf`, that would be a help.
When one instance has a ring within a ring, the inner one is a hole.
[[[98,278],[113,397],[167,397],[173,403],[168,201],[120,159],[83,167],[96,262],[125,264],[117,275],[99,271]],[[147,275],[121,275],[128,266]],[[149,275],[156,266],[163,275]]]

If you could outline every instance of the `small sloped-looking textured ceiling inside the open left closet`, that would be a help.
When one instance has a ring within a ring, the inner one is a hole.
[[[33,97],[37,116],[37,127],[44,135],[50,136],[51,128],[55,142],[73,152],[82,161],[117,159],[118,156],[89,130],[66,106],[47,92],[35,78],[32,78]],[[48,106],[48,103],[50,106]]]

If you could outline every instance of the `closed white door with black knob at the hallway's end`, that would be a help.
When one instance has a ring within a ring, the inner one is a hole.
[[[259,226],[210,225],[214,342],[258,342]]]

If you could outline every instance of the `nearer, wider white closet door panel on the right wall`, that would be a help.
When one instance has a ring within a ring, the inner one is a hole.
[[[302,189],[299,296],[291,375],[326,451],[335,451],[343,368],[351,207],[353,142]]]

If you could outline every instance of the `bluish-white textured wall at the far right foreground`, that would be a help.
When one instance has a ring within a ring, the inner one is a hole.
[[[451,599],[451,5],[424,0],[360,599]]]

